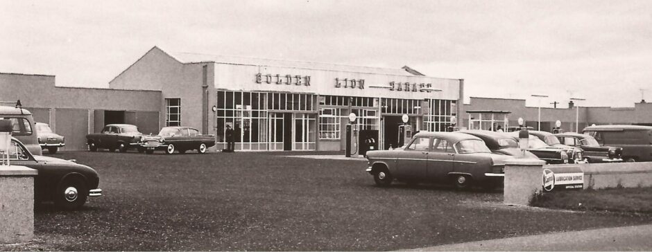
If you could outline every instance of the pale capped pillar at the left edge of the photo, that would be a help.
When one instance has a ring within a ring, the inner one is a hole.
[[[34,177],[37,170],[0,165],[0,243],[34,238]]]

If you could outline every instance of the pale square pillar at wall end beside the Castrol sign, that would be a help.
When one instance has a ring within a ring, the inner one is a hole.
[[[543,190],[543,165],[539,159],[511,159],[505,164],[504,204],[531,204]]]

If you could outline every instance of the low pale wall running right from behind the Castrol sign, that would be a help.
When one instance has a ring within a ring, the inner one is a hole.
[[[576,166],[584,172],[584,189],[652,187],[652,162],[544,165],[544,168],[565,166]]]

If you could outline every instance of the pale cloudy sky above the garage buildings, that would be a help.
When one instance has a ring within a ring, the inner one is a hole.
[[[62,87],[108,87],[158,46],[410,66],[464,79],[466,102],[652,102],[652,1],[0,0],[0,34],[1,73],[56,75]]]

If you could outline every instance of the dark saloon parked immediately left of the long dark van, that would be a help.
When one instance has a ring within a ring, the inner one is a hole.
[[[621,147],[600,146],[593,136],[574,132],[555,134],[563,145],[579,147],[584,151],[584,158],[589,163],[614,163],[622,162]]]

